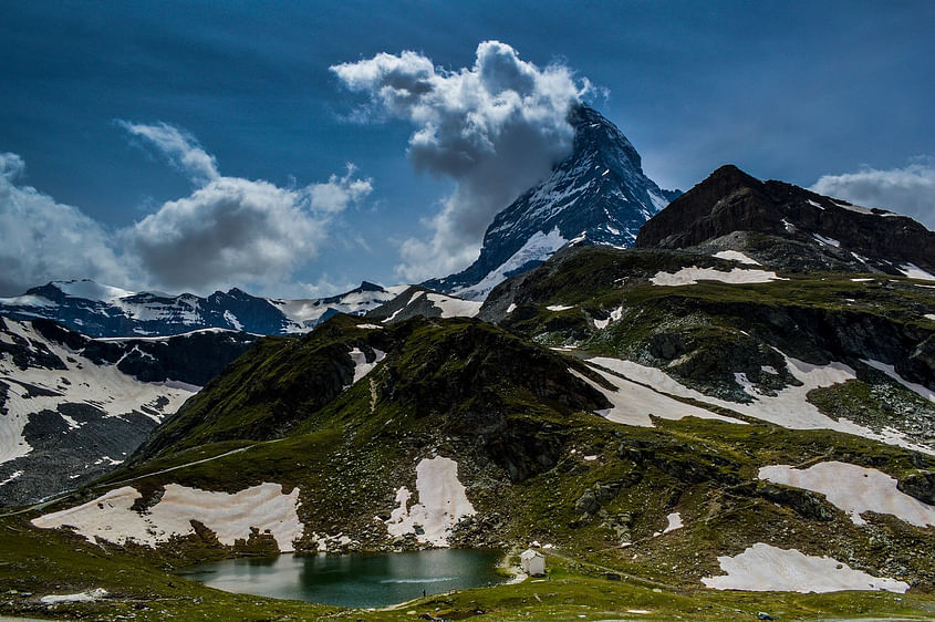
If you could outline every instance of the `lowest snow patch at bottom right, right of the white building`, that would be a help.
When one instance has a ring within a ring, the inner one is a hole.
[[[763,542],[757,542],[735,557],[718,557],[717,561],[727,574],[702,579],[705,587],[714,590],[801,593],[886,590],[904,593],[910,589],[904,581],[873,577],[830,557],[807,556],[797,549],[780,549]]]

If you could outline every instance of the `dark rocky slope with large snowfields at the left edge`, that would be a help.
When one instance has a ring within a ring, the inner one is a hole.
[[[0,505],[112,470],[254,339],[216,330],[97,340],[0,318]]]

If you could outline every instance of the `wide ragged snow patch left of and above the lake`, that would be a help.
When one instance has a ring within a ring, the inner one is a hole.
[[[145,514],[131,509],[139,498],[135,488],[124,486],[84,505],[35,518],[32,523],[41,529],[67,526],[92,542],[95,538],[117,545],[132,540],[149,547],[194,533],[193,520],[205,525],[227,546],[249,538],[251,528],[269,531],[282,552],[294,550],[293,540],[302,537],[298,488],[287,495],[279,484],[260,484],[231,495],[169,484],[163,498]]]

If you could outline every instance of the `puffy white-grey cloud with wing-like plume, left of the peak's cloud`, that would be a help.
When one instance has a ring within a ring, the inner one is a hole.
[[[226,177],[214,156],[178,128],[124,126],[199,185],[121,232],[128,255],[163,288],[206,291],[282,282],[318,252],[331,218],[373,189],[371,179],[354,176],[353,165],[342,177],[300,188]]]

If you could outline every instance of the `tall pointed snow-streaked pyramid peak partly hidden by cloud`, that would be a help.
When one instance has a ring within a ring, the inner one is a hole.
[[[482,299],[499,281],[542,263],[570,240],[631,247],[646,219],[679,195],[646,177],[640,154],[600,113],[578,106],[569,121],[575,128],[572,154],[497,215],[477,261],[425,287]]]

